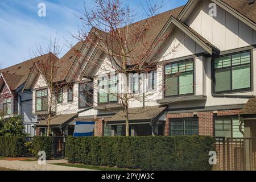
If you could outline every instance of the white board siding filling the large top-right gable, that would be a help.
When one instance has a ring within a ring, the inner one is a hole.
[[[217,16],[208,14],[211,1],[200,1],[185,21],[221,51],[255,44],[255,31],[217,6]]]

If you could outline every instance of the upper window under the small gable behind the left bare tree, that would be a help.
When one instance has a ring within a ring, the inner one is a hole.
[[[46,111],[48,108],[48,90],[36,91],[36,111]]]

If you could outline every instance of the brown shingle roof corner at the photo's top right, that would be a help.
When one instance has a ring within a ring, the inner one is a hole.
[[[256,23],[256,2],[249,5],[248,0],[222,0],[242,15]]]

